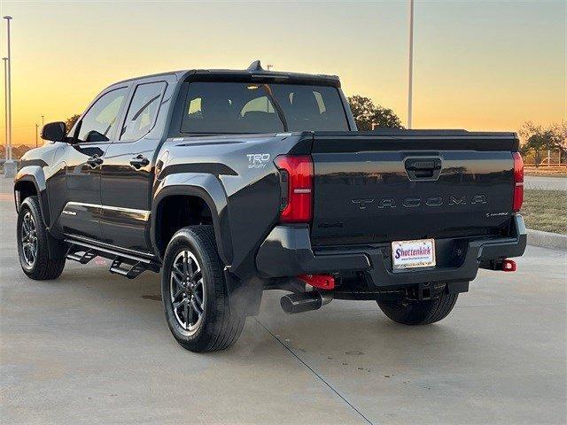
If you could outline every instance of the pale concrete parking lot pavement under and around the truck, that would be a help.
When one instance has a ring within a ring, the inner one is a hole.
[[[427,327],[374,302],[290,316],[268,292],[235,347],[194,354],[169,334],[158,274],[128,281],[95,259],[27,279],[0,189],[3,423],[565,423],[565,251],[480,271]]]

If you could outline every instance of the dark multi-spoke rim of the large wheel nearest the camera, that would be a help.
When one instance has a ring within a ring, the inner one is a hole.
[[[195,255],[190,251],[179,252],[169,277],[170,300],[175,320],[190,334],[195,333],[205,314],[204,284],[203,272]]]

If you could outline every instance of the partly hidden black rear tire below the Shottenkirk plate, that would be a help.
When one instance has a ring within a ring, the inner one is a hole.
[[[384,314],[404,325],[429,325],[447,317],[459,294],[441,293],[438,298],[423,301],[377,301]]]

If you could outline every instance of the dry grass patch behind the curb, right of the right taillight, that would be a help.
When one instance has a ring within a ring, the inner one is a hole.
[[[520,212],[527,228],[567,235],[567,191],[524,190]]]

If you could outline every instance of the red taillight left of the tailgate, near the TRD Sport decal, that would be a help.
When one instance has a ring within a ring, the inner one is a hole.
[[[280,170],[280,219],[305,223],[313,216],[313,160],[308,155],[282,155],[274,160]]]

